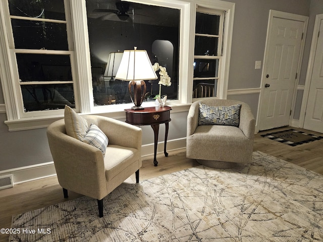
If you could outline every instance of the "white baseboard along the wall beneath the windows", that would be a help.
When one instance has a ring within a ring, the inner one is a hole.
[[[186,138],[170,140],[167,142],[167,151],[174,151],[185,148]],[[154,144],[143,145],[141,150],[142,157],[153,155],[153,150]],[[164,152],[164,142],[159,142],[157,146],[157,153],[162,152]],[[20,183],[26,183],[27,181],[37,180],[56,175],[56,170],[53,162],[47,162],[37,165],[0,171],[0,176],[8,174],[13,175],[13,183],[14,185],[16,185]]]

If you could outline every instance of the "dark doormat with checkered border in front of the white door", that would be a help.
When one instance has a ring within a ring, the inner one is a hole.
[[[297,130],[284,130],[261,136],[290,146],[301,145],[315,140],[323,139],[322,136],[307,134]]]

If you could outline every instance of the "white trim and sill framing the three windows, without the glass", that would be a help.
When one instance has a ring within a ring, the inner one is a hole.
[[[81,114],[100,114],[104,116],[110,116],[117,119],[125,118],[124,109],[129,108],[129,104],[118,104],[109,106],[94,106],[92,83],[86,80],[91,80],[90,70],[90,53],[89,41],[87,35],[87,19],[86,19],[86,4],[85,1],[79,0],[65,0],[70,5],[71,22],[73,31],[73,49],[75,62],[72,62],[74,70],[78,74],[77,79],[74,77],[75,85],[75,99],[76,110]],[[231,42],[233,33],[233,17],[235,4],[230,2],[224,2],[220,0],[133,0],[134,3],[150,4],[156,6],[164,6],[177,8],[181,10],[181,28],[180,28],[180,63],[179,63],[179,99],[169,100],[168,105],[172,106],[172,112],[187,111],[192,103],[192,89],[193,89],[193,65],[194,62],[194,40],[195,40],[195,12],[196,7],[216,9],[220,11],[226,11],[225,22],[225,35],[224,49],[221,66],[219,71],[221,72],[221,82],[218,84],[219,96],[218,98],[227,98],[228,92],[228,80],[229,80],[229,65],[231,55]],[[1,1],[0,3],[0,31],[1,33],[7,33],[6,22],[9,16],[6,11],[3,11],[7,1]],[[68,17],[67,17],[68,18]],[[16,87],[13,85],[14,73],[13,64],[16,60],[12,60],[10,49],[8,46],[9,39],[7,34],[0,35],[0,79],[2,82],[6,113],[8,120],[5,123],[9,127],[9,131],[28,130],[45,128],[54,120],[61,119],[64,116],[64,109],[55,110],[49,115],[38,117],[21,117],[19,108],[17,105],[17,93]],[[84,68],[86,67],[86,68]],[[196,99],[194,99],[195,101]],[[143,106],[151,106],[151,102],[144,102]]]

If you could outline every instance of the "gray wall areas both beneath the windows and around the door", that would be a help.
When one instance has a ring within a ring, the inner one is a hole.
[[[309,46],[314,18],[323,13],[321,0],[229,0],[236,3],[232,56],[229,74],[229,90],[260,87],[261,70],[255,70],[255,61],[263,61],[269,10],[278,10],[310,16],[304,52],[300,83],[306,77]],[[258,94],[234,95],[230,99],[240,99],[251,105],[256,115]],[[0,104],[4,103],[0,91]],[[186,136],[187,112],[173,113],[170,123],[169,140]],[[46,129],[9,132],[5,113],[0,113],[0,171],[52,161],[46,138]],[[143,128],[143,144],[153,143],[150,127]],[[159,141],[163,140],[164,126],[161,125]]]

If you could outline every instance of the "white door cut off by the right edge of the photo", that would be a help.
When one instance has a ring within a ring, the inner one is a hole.
[[[319,33],[315,46],[304,129],[323,133],[323,20],[320,20]]]

